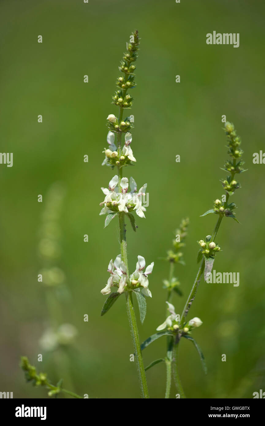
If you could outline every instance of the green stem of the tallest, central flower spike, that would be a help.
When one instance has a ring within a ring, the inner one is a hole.
[[[122,120],[122,113],[123,109],[120,108],[120,115],[119,115],[119,122]],[[121,149],[121,135],[122,133],[119,132],[117,136],[117,142],[118,142],[118,148]],[[118,166],[118,184],[121,183],[122,178],[122,168]],[[129,276],[129,267],[128,267],[128,258],[127,258],[127,242],[126,242],[126,229],[125,229],[125,222],[124,217],[125,213],[120,212],[118,214],[119,217],[119,236],[120,236],[120,245],[121,245],[121,259],[126,265],[127,269],[127,276]],[[130,331],[132,335],[132,342],[133,347],[135,350],[135,356],[137,361],[137,368],[138,368],[138,374],[139,374],[139,382],[140,382],[140,388],[141,388],[141,394],[143,398],[149,398],[149,392],[147,387],[147,380],[146,375],[144,371],[144,361],[141,353],[141,343],[139,340],[139,334],[138,334],[138,328],[137,328],[137,322],[135,317],[135,311],[133,308],[133,301],[132,301],[132,291],[126,291],[126,307],[127,307],[127,315],[128,320],[130,324]]]

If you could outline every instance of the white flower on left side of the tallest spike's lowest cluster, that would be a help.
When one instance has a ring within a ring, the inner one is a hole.
[[[126,265],[121,260],[120,254],[116,257],[114,263],[111,259],[108,266],[108,272],[110,273],[110,277],[106,287],[101,290],[101,294],[109,294],[113,285],[118,285],[118,293],[121,294],[126,285],[127,271]]]

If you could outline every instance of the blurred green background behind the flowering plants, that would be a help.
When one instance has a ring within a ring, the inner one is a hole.
[[[26,384],[20,355],[29,357],[52,383],[92,398],[138,398],[139,387],[124,298],[100,317],[109,259],[119,253],[117,226],[99,216],[113,173],[101,167],[106,147],[105,119],[111,105],[125,42],[135,29],[141,37],[137,61],[132,149],[135,168],[127,169],[138,187],[147,182],[150,206],[127,232],[129,266],[137,255],[149,264],[153,298],[139,323],[141,340],[165,319],[162,280],[168,265],[158,260],[171,248],[175,229],[189,216],[178,266],[184,297],[196,276],[196,241],[213,231],[216,216],[199,217],[223,193],[220,178],[228,157],[221,116],[242,137],[246,173],[233,196],[241,225],[224,219],[218,234],[222,253],[216,271],[240,273],[239,287],[202,282],[189,318],[203,326],[193,336],[204,352],[208,374],[190,342],[180,349],[181,380],[190,398],[251,398],[265,391],[264,369],[264,165],[252,155],[264,147],[264,12],[262,1],[244,0],[2,0],[1,151],[14,153],[14,165],[0,165],[1,364],[0,390],[14,397],[44,398],[45,389]],[[208,32],[240,33],[238,49],[208,46]],[[43,43],[37,43],[37,36]],[[84,75],[89,83],[84,83]],[[180,75],[181,82],[175,82]],[[37,116],[43,115],[43,123]],[[85,154],[91,162],[84,163]],[[176,154],[181,162],[176,163]],[[58,226],[61,255],[55,265],[66,275],[71,296],[63,299],[63,322],[78,329],[75,344],[46,353],[39,339],[49,326],[46,289],[37,282],[38,254],[46,194],[53,182],[66,187]],[[37,195],[43,195],[43,203]],[[89,242],[83,241],[84,234]],[[88,322],[84,322],[88,314]],[[137,311],[138,314],[138,311]],[[144,351],[148,365],[165,355],[165,339]],[[43,362],[37,362],[37,354]],[[222,362],[222,354],[227,361]],[[68,378],[67,378],[68,377]],[[147,371],[150,395],[164,397],[165,366]],[[70,385],[71,382],[71,385]],[[174,386],[172,397],[175,396]]]

